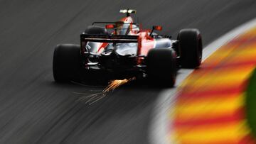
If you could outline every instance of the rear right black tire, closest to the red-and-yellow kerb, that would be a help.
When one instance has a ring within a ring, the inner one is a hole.
[[[174,87],[176,81],[176,52],[171,48],[154,48],[148,53],[147,74],[157,86]]]

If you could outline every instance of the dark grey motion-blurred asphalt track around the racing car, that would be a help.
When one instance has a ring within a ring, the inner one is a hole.
[[[198,28],[204,45],[256,16],[254,0],[0,0],[0,143],[149,143],[154,102],[163,89],[127,84],[92,105],[73,92],[102,86],[55,84],[53,48],[79,43],[93,21],[137,9],[144,28],[161,34]]]

